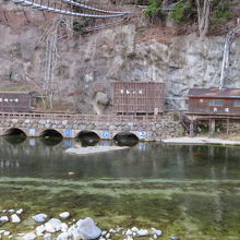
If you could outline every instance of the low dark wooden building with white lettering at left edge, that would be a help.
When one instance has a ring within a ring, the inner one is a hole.
[[[36,96],[27,92],[0,92],[1,112],[29,112]]]

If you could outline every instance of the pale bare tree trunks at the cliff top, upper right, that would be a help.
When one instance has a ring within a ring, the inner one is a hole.
[[[202,39],[207,35],[209,28],[213,1],[214,0],[195,0],[197,8],[199,33],[200,38]]]

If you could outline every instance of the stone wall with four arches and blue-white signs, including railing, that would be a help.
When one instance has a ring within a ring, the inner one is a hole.
[[[96,116],[64,113],[0,112],[0,135],[21,131],[26,136],[41,136],[55,131],[62,137],[74,139],[92,132],[103,140],[118,134],[133,134],[140,141],[160,141],[182,135],[183,129],[172,115],[157,116]]]

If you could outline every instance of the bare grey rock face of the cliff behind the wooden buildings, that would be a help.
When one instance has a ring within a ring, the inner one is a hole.
[[[31,86],[40,92],[47,68],[43,36],[53,16],[44,21],[43,15],[36,17],[28,10],[31,23],[20,24],[20,19],[24,17],[21,10],[9,2],[0,7],[9,16],[7,25],[0,13],[0,87],[16,85],[25,89]],[[15,19],[11,21],[10,15]],[[62,110],[79,112],[109,112],[112,81],[165,82],[166,96],[170,98],[185,97],[189,87],[218,86],[224,41],[224,37],[201,41],[194,35],[173,36],[168,28],[153,28],[141,19],[86,36],[71,36],[61,26],[53,71],[53,107],[61,109],[64,106]],[[239,53],[240,40],[236,40],[227,87],[240,87]],[[170,108],[185,107],[184,100],[167,101]]]

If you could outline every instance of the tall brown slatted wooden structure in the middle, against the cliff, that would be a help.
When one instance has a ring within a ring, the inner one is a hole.
[[[115,113],[164,112],[164,83],[113,82],[112,86]]]

